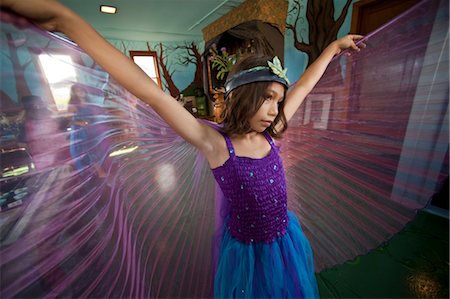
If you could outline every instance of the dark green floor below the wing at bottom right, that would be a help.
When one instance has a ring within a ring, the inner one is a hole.
[[[446,213],[419,212],[386,245],[322,271],[317,276],[321,298],[449,298]]]

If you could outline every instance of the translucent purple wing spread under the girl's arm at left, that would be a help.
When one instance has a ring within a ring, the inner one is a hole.
[[[210,296],[206,161],[79,49],[2,18],[2,297]]]

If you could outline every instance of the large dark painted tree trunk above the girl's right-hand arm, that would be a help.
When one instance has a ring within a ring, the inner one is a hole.
[[[286,22],[286,28],[291,30],[294,35],[294,47],[308,55],[307,66],[309,66],[337,38],[337,33],[344,23],[352,0],[347,0],[336,20],[334,19],[334,0],[305,1],[307,1],[306,19],[309,26],[309,43],[304,41],[299,30],[299,22],[302,21],[300,13],[304,9],[302,0],[291,0],[292,8],[289,15],[293,16],[293,22]]]

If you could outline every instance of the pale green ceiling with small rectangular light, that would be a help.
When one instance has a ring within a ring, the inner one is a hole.
[[[202,29],[245,0],[60,0],[107,39],[202,40]],[[251,0],[248,0],[251,1]],[[99,6],[118,8],[115,15]]]

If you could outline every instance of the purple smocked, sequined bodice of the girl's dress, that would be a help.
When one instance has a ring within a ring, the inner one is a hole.
[[[227,222],[233,237],[244,243],[270,243],[287,228],[286,179],[278,148],[266,132],[269,155],[261,159],[236,156],[230,138],[223,134],[230,158],[213,169],[214,177],[230,201]]]

